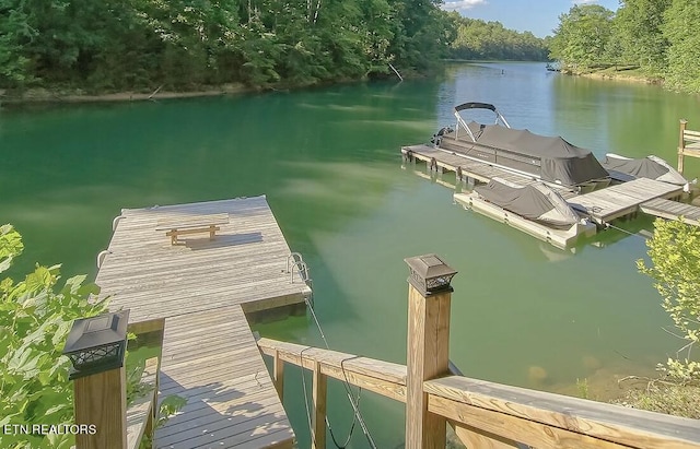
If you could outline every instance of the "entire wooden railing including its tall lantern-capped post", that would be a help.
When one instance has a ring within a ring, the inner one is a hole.
[[[462,376],[448,351],[450,281],[456,272],[435,255],[406,262],[411,268],[406,365],[258,339],[260,352],[273,358],[272,377],[280,398],[285,363],[313,373],[313,449],[326,445],[328,377],[405,403],[406,449],[444,449],[446,425],[470,449],[700,449],[697,420]]]

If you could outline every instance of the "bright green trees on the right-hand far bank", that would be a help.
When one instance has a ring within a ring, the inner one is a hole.
[[[638,67],[678,91],[700,93],[700,1],[621,0],[617,12],[578,4],[559,17],[550,56],[567,70]]]

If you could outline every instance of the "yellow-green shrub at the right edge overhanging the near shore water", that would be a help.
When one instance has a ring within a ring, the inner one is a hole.
[[[650,239],[652,264],[638,260],[639,270],[653,277],[663,298],[662,306],[687,344],[661,369],[675,380],[700,380],[700,363],[691,350],[700,341],[700,229],[681,221],[657,220]],[[680,353],[684,353],[680,358]]]

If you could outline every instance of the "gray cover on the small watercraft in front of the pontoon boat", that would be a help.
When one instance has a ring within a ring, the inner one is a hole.
[[[571,227],[579,216],[567,200],[542,182],[517,186],[500,178],[474,189],[485,200],[521,215],[555,227]]]

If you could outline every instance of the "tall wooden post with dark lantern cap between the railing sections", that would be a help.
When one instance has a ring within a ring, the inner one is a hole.
[[[406,259],[408,342],[406,378],[406,449],[444,449],[446,421],[428,412],[423,382],[450,371],[450,305],[456,274],[438,256]]]

